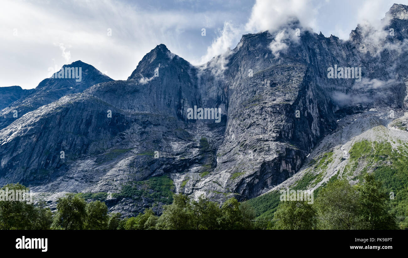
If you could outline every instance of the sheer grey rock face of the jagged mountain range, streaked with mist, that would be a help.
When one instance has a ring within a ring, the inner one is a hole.
[[[167,174],[175,192],[195,198],[259,196],[293,176],[342,117],[407,108],[406,9],[392,6],[381,30],[359,25],[348,41],[293,22],[244,35],[202,66],[160,44],[126,81],[89,69],[89,80],[71,92],[46,79],[1,111],[27,113],[1,121],[0,183],[21,182],[52,199],[63,191],[120,192],[127,182]],[[360,67],[361,81],[328,78],[334,65]],[[188,119],[194,106],[219,108],[220,122]],[[109,205],[126,215],[146,202]]]

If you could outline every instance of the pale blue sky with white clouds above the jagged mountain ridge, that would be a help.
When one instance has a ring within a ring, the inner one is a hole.
[[[1,0],[0,87],[35,88],[50,68],[77,60],[126,80],[158,44],[193,65],[203,64],[235,48],[243,34],[277,29],[288,17],[347,40],[357,24],[379,23],[394,2]]]

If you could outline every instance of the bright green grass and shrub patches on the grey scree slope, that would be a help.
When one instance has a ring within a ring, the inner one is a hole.
[[[332,154],[332,152],[324,153],[318,162],[310,162],[309,165],[313,167],[308,169],[290,189],[313,188],[322,179],[322,175],[327,173],[325,171],[327,165],[333,161]],[[383,182],[386,191],[393,192],[395,195],[395,198],[390,200],[391,212],[397,216],[406,216],[408,213],[408,143],[400,141],[398,147],[393,148],[387,141],[361,140],[354,143],[349,154],[350,158],[343,171],[338,171],[328,182],[338,176],[359,180],[364,173],[373,172],[376,178]],[[315,198],[326,183],[315,189]],[[279,196],[279,191],[276,190],[247,202],[254,207],[257,216],[272,218],[279,204]]]

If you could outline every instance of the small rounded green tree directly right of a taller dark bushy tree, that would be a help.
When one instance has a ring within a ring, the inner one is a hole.
[[[86,205],[85,229],[107,229],[109,222],[108,207],[100,200]]]

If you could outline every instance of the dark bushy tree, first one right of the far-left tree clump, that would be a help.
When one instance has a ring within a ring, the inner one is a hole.
[[[58,198],[57,211],[53,218],[53,229],[83,229],[86,220],[86,202],[84,199],[67,193]]]

